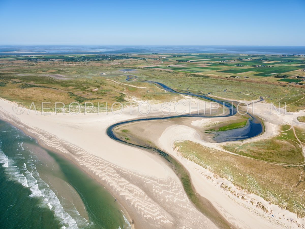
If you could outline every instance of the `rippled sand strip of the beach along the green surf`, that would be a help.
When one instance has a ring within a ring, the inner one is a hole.
[[[1,108],[0,118],[33,136],[44,147],[64,154],[99,180],[128,209],[137,228],[216,228],[189,201],[178,179],[160,180],[120,168],[21,122]]]

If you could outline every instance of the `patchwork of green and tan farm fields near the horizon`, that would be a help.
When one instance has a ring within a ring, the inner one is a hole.
[[[286,83],[301,84],[303,78],[296,77],[305,77],[305,57],[302,55],[164,54],[153,57],[160,58],[160,64],[152,67],[140,67],[212,77],[233,78],[234,76],[236,79],[262,80],[276,83],[284,81]],[[275,78],[274,76],[277,75],[287,75],[288,78],[285,80]]]

